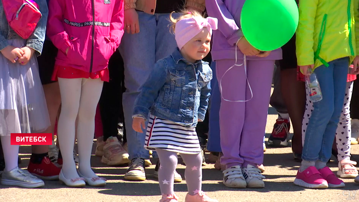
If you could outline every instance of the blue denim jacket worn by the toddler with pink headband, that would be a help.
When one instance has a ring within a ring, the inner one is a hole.
[[[149,113],[185,127],[195,127],[205,119],[212,70],[208,63],[194,64],[183,58],[178,48],[158,60],[136,99],[133,117],[146,120]]]

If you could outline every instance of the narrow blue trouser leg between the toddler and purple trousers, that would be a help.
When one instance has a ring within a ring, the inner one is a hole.
[[[212,152],[222,152],[220,135],[221,93],[215,71],[215,62],[211,63],[213,78],[211,80],[211,111],[209,115],[209,132],[207,149]]]

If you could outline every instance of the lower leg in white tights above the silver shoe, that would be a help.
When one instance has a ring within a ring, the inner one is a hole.
[[[11,136],[0,136],[4,152],[5,170],[11,171],[18,166],[18,145],[11,145]]]

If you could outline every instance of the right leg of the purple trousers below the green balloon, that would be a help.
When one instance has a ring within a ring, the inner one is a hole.
[[[245,120],[240,147],[240,155],[244,159],[243,167],[247,167],[248,164],[254,167],[263,164],[263,133],[266,130],[273,70],[274,60],[248,61],[248,81],[253,98],[245,104]],[[251,98],[251,92],[247,85],[246,99],[249,98]]]

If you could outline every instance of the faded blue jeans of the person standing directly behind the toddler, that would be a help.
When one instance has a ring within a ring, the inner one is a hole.
[[[135,99],[142,90],[157,60],[170,55],[177,47],[174,35],[169,30],[169,14],[150,15],[137,11],[139,33],[125,33],[119,51],[124,58],[125,87],[123,108],[130,159],[149,159],[144,148],[146,131],[137,133],[132,129],[132,112]],[[176,14],[173,16],[176,17]]]

